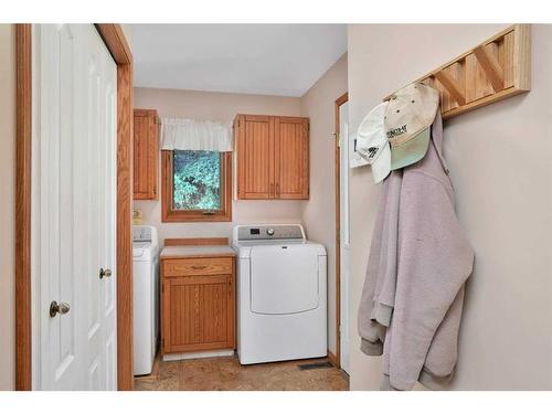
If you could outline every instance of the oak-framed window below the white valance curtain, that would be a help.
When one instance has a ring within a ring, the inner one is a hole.
[[[162,221],[232,220],[232,152],[162,151]]]

